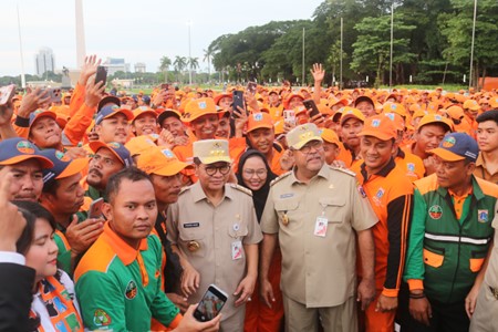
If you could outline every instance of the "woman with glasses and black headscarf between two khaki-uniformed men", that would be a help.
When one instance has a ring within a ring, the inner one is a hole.
[[[268,193],[270,191],[270,183],[274,178],[277,178],[277,175],[271,172],[270,165],[261,152],[248,149],[240,156],[237,180],[240,186],[252,191],[252,201],[255,203],[258,222],[261,219]],[[252,301],[246,304],[245,331],[280,331],[283,317],[282,295],[279,287],[280,273],[281,253],[277,249],[268,273],[276,301],[272,303],[272,308],[268,308],[261,302],[259,300],[259,282],[257,282]]]

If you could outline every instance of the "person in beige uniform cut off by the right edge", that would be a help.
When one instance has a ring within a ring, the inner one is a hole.
[[[495,205],[495,211],[498,211],[498,201]],[[498,214],[495,214],[491,226],[495,228],[494,246],[488,257],[488,267],[483,268],[483,270],[486,269],[486,274],[477,297],[474,314],[471,299],[468,297],[465,299],[467,314],[473,314],[470,318],[470,332],[498,331],[498,320],[496,319],[496,313],[498,312]]]

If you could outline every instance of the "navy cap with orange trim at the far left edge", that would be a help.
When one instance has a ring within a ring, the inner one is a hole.
[[[28,139],[21,137],[8,138],[0,142],[0,165],[9,166],[28,159],[40,160],[42,168],[50,168],[53,163],[40,155],[40,149]]]

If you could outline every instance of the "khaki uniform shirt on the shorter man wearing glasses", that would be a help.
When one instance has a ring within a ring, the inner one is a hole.
[[[179,195],[176,204],[169,206],[166,228],[172,245],[185,253],[200,274],[200,287],[188,298],[188,302],[198,303],[208,286],[215,283],[229,294],[222,310],[224,320],[236,313],[232,293],[246,277],[246,253],[243,246],[238,246],[241,257],[232,259],[232,247],[240,243],[238,241],[255,245],[262,240],[248,190],[227,184],[225,197],[215,207],[197,181]]]

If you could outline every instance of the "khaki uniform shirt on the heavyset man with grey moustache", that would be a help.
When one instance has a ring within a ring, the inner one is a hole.
[[[377,222],[365,197],[353,173],[328,165],[309,184],[298,180],[293,172],[273,181],[261,230],[279,235],[281,289],[287,297],[320,308],[340,305],[354,294],[354,230]],[[328,219],[325,237],[314,235],[317,217]]]

